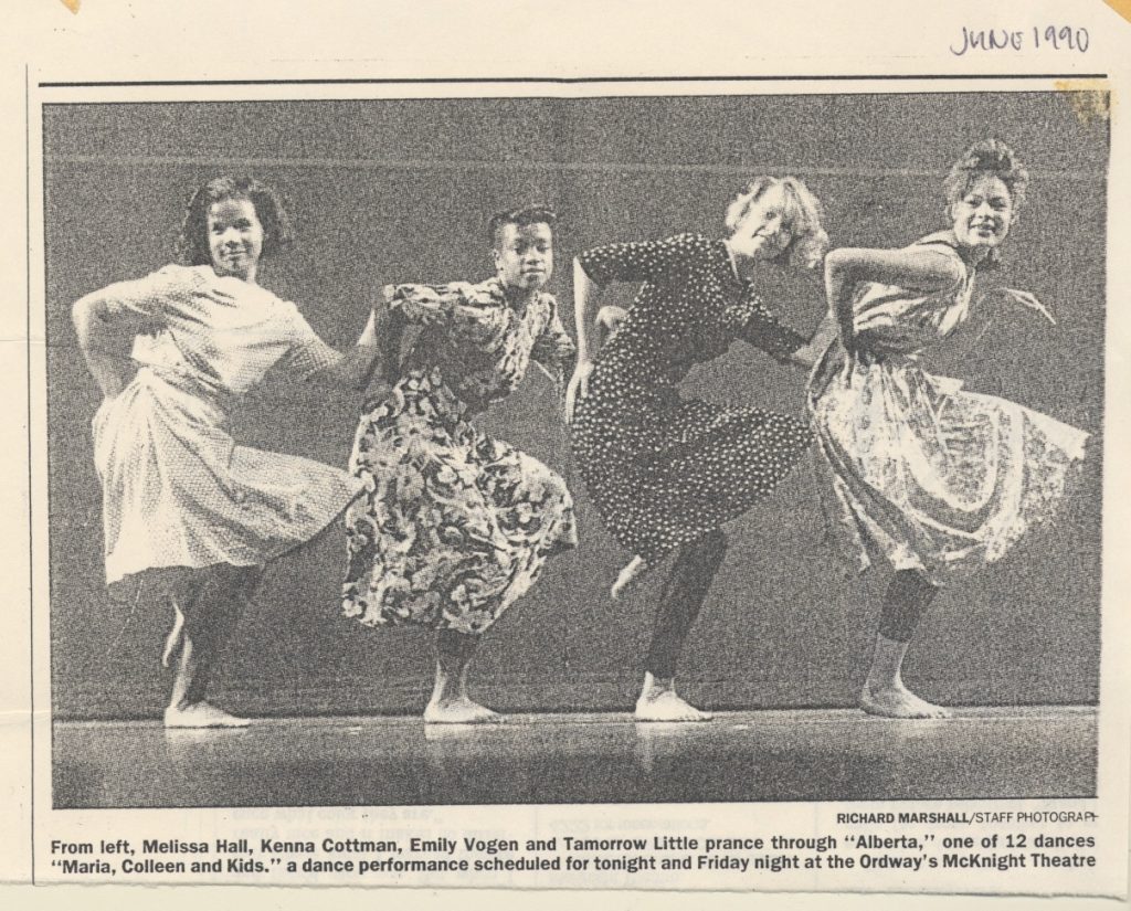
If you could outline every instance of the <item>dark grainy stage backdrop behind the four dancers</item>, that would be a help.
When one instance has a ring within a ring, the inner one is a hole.
[[[999,136],[1033,173],[993,283],[1036,293],[1060,320],[987,304],[931,365],[1099,434],[1103,426],[1106,123],[1055,94],[452,99],[75,105],[45,110],[52,670],[57,717],[156,712],[171,619],[105,593],[89,422],[98,393],[71,303],[170,259],[187,194],[251,172],[290,197],[300,245],[264,284],[325,338],[352,344],[388,281],[478,279],[484,224],[524,201],[561,212],[552,289],[571,322],[570,260],[585,246],[681,231],[722,233],[732,194],[794,173],[828,210],[835,245],[901,245],[943,227],[940,183],[972,141]],[[613,295],[628,300],[627,290]],[[815,279],[768,272],[766,296],[802,330]],[[741,344],[689,392],[792,413],[803,375]],[[275,376],[236,415],[236,439],[344,465],[361,397]],[[551,384],[536,371],[485,420],[560,470],[580,549],[486,637],[476,693],[502,709],[624,709],[638,685],[659,579],[607,599],[629,557],[599,526],[570,463]],[[1097,697],[1100,446],[1051,530],[936,601],[908,682],[951,704]],[[886,573],[846,579],[823,541],[811,469],[731,526],[726,562],[681,677],[715,708],[851,705]],[[215,693],[252,713],[418,711],[430,636],[338,616],[335,530],[275,565]]]

